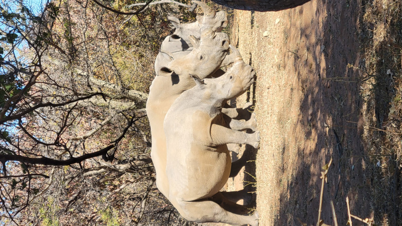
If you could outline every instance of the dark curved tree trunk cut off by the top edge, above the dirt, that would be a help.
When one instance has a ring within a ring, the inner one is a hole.
[[[310,0],[212,0],[237,10],[279,11],[303,5]]]

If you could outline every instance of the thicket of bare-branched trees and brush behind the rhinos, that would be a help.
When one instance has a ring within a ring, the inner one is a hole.
[[[24,3],[0,3],[2,222],[182,221],[155,188],[144,110],[168,6]]]

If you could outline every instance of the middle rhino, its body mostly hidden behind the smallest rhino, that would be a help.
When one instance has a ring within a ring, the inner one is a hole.
[[[205,5],[204,11],[206,15],[203,17],[203,23],[214,22],[211,8]],[[207,17],[211,18],[207,20]],[[221,20],[216,23],[222,25]],[[150,86],[146,110],[151,126],[151,158],[156,171],[156,186],[165,196],[168,195],[169,187],[165,172],[166,139],[163,132],[163,120],[167,110],[183,91],[195,86],[191,76],[204,79],[234,59],[233,56],[227,56],[228,36],[215,32],[216,27],[219,26],[203,25],[199,31],[200,39],[189,35],[188,40],[193,49],[185,56],[175,58],[166,66],[160,67]]]

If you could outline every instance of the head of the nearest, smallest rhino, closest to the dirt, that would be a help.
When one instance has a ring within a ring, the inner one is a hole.
[[[201,89],[214,90],[212,95],[217,100],[228,100],[243,94],[254,82],[255,72],[250,65],[244,63],[239,50],[230,45],[235,57],[233,66],[219,78],[198,79],[195,83]]]

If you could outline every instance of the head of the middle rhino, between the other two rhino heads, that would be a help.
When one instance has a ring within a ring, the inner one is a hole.
[[[158,75],[178,75],[204,79],[221,67],[229,51],[229,38],[225,33],[216,33],[211,28],[201,29],[201,38],[188,36],[194,46],[187,55],[174,59],[161,67]],[[174,84],[174,82],[173,82]]]

